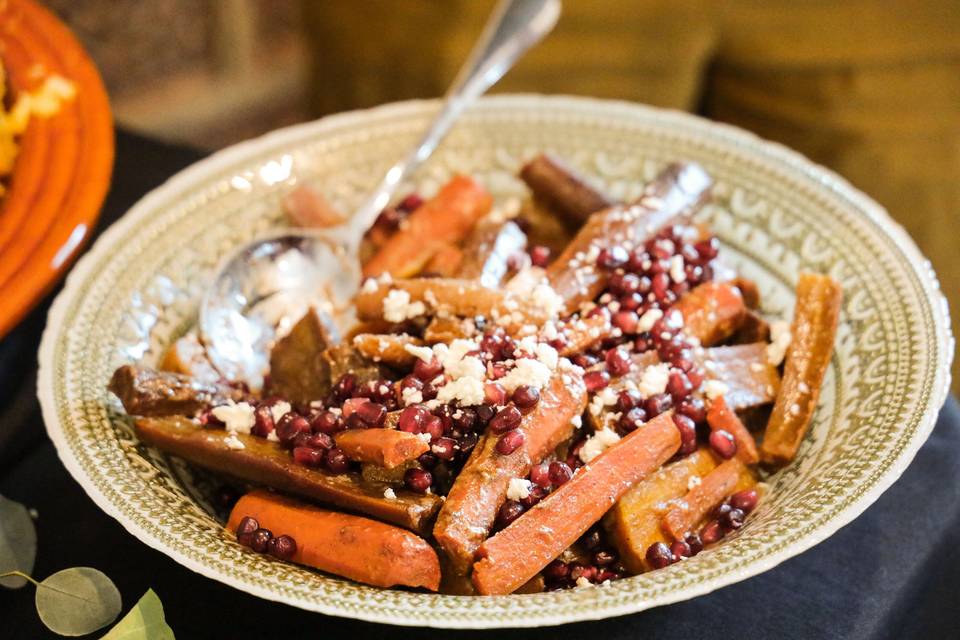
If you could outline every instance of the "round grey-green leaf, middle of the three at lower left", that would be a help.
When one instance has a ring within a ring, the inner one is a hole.
[[[117,587],[100,571],[74,567],[37,585],[37,613],[62,636],[82,636],[117,619],[122,603]]]

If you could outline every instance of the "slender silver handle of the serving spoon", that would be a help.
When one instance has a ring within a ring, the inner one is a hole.
[[[350,237],[357,239],[377,219],[397,187],[433,153],[470,104],[503,77],[527,49],[550,33],[560,17],[560,0],[501,0],[447,90],[443,106],[417,146],[393,165],[370,199],[357,211]]]

